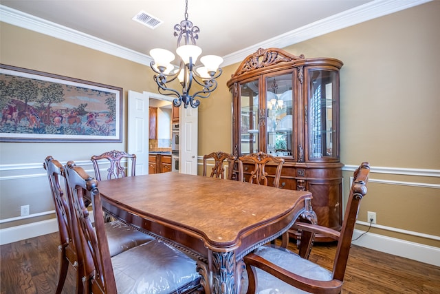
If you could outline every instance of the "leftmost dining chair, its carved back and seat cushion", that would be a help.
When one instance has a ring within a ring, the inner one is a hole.
[[[64,168],[63,165],[52,156],[45,158],[43,167],[47,171],[47,178],[49,179],[60,236],[60,245],[58,246],[60,251],[60,265],[56,294],[63,291],[69,264],[76,269],[76,293],[83,293],[83,284],[81,282],[84,276],[83,259],[78,257],[78,243],[74,242],[74,231],[72,229],[76,224],[72,222],[72,213],[69,210],[68,200],[60,185],[60,178],[64,177]],[[150,235],[137,231],[119,221],[107,222],[104,227],[109,236],[111,256],[130,249],[133,246],[154,240]]]

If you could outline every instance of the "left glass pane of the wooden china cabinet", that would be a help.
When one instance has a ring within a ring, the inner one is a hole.
[[[259,151],[259,81],[243,83],[240,87],[241,154],[250,154]]]

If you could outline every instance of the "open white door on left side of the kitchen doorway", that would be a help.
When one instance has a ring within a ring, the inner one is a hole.
[[[148,174],[148,94],[129,90],[128,104],[128,153],[136,155],[136,175]]]

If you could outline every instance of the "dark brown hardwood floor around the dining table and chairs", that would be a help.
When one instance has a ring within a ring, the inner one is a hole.
[[[1,294],[54,293],[57,244],[58,233],[51,233],[1,245]],[[310,260],[330,269],[334,253],[334,244],[315,244]],[[74,277],[70,266],[63,293],[74,293]],[[440,267],[353,246],[342,293],[440,293]]]

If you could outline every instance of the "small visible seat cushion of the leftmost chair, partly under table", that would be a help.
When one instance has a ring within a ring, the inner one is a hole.
[[[107,240],[109,240],[110,256],[155,240],[150,235],[137,231],[135,228],[118,220],[106,222],[105,233],[107,234]]]

